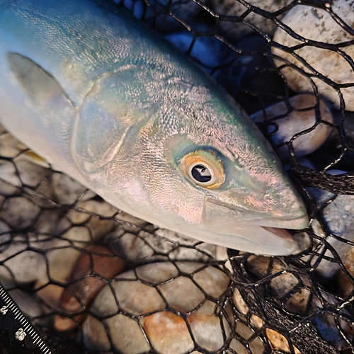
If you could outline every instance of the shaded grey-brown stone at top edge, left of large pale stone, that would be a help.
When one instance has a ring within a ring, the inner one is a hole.
[[[273,13],[287,6],[287,4],[290,3],[290,0],[263,0],[261,3],[257,0],[249,0],[248,2],[252,6],[256,6],[264,11]],[[239,1],[232,0],[212,0],[212,7],[219,15],[227,16],[241,16],[247,10],[246,6],[239,3]],[[278,15],[277,18],[280,20],[282,16],[283,15]],[[271,21],[268,18],[258,15],[254,12],[249,13],[246,18],[244,18],[244,21],[255,25],[256,28],[270,36],[273,35],[275,29],[277,28],[277,25],[274,21]],[[245,25],[244,23],[237,22],[222,21],[220,28],[228,38],[234,41],[239,40],[240,38],[244,38],[246,35],[257,33],[255,30]]]

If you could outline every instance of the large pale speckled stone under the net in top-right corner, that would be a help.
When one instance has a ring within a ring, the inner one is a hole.
[[[354,3],[350,0],[335,0],[331,3],[331,8],[337,16],[345,21],[349,27],[353,27],[354,23]],[[350,35],[339,25],[331,15],[321,8],[312,6],[304,6],[302,4],[290,9],[282,18],[282,23],[289,26],[297,35],[302,36],[305,40],[314,40],[317,42],[325,42],[331,45],[353,40]],[[294,47],[304,42],[293,38],[287,34],[285,30],[277,28],[273,41],[286,47]],[[307,44],[305,42],[305,44]],[[340,48],[346,55],[354,58],[354,45],[348,45]],[[311,92],[314,93],[311,81],[308,79],[310,69],[304,67],[291,53],[285,52],[277,47],[272,47],[274,55],[282,59],[275,59],[275,65],[280,67],[287,62],[295,64],[296,67],[302,69],[292,69],[289,65],[281,69],[282,74],[287,80],[290,89],[295,92]],[[354,82],[354,71],[349,62],[340,54],[338,50],[327,50],[312,45],[304,45],[295,50],[296,54],[304,59],[307,64],[313,67],[321,75],[331,79],[336,84],[348,84]],[[326,98],[333,107],[339,108],[340,101],[338,92],[332,86],[326,84],[319,76],[311,78],[316,84],[319,94],[322,98]],[[344,101],[346,102],[346,110],[354,110],[354,87],[346,87],[341,89]]]

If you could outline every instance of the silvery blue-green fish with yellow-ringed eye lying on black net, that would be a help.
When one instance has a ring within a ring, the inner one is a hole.
[[[224,89],[120,6],[0,0],[0,122],[53,169],[135,217],[287,255],[307,210]]]

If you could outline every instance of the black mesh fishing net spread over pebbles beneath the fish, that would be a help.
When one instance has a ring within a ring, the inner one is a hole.
[[[213,76],[278,150],[310,215],[292,232],[294,256],[154,227],[33,164],[1,131],[0,280],[52,353],[354,353],[354,11],[336,1],[121,2]],[[285,138],[287,116],[309,112]],[[320,128],[324,143],[304,152],[301,138]]]

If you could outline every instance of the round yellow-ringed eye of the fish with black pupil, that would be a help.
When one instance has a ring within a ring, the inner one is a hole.
[[[200,187],[214,189],[225,181],[223,161],[212,149],[186,154],[180,166],[184,176]]]

